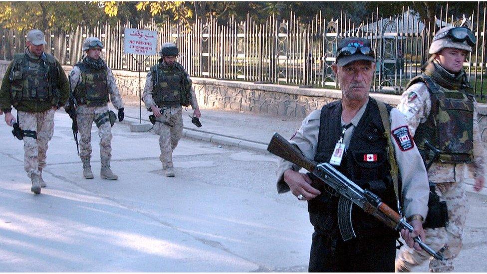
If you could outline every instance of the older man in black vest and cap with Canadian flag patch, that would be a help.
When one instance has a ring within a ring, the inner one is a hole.
[[[374,60],[370,41],[356,37],[342,40],[332,66],[342,99],[311,112],[290,142],[308,159],[334,165],[396,211],[399,197],[402,213],[414,227],[413,233],[402,231],[402,236],[410,247],[420,249],[413,238],[421,236],[424,240],[421,219],[426,217],[428,203],[426,169],[404,116],[369,96]],[[382,116],[387,120],[383,121]],[[391,132],[385,132],[386,125]],[[391,155],[397,160],[399,181],[395,180],[397,170],[391,169],[388,145],[394,150]],[[343,241],[337,220],[338,197],[324,188],[311,187],[310,177],[299,173],[299,169],[281,160],[277,190],[290,190],[299,200],[308,201],[314,226],[309,271],[393,272],[399,233],[354,205],[352,225],[356,238]]]

